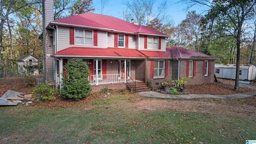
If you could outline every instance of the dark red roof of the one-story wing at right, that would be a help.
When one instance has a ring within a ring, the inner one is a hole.
[[[171,48],[166,48],[166,53],[172,55],[173,58],[208,58],[208,59],[219,59],[214,56],[209,56],[207,54],[202,54],[200,52],[195,52],[193,50],[188,50],[179,46],[173,46]]]

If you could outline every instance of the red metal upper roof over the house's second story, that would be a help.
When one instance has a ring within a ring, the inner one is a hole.
[[[163,37],[168,37],[167,34],[158,32],[146,26],[142,26],[142,25],[138,26],[136,24],[126,22],[124,20],[115,18],[113,16],[94,14],[90,12],[69,16],[59,20],[54,20],[51,23],[52,25],[53,24],[57,24],[57,25],[71,24],[71,25],[94,27],[99,29],[110,29],[112,31],[119,31],[119,32],[145,33],[145,34],[160,35]]]

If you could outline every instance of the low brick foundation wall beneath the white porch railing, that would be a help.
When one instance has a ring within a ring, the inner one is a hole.
[[[92,86],[92,92],[99,92],[103,88],[109,88],[112,90],[122,90],[126,89],[126,83],[115,83],[115,84],[99,84],[98,86],[96,85],[91,85]]]

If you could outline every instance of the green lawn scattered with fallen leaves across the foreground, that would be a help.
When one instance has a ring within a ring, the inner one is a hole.
[[[54,110],[1,107],[0,143],[244,144],[255,139],[255,117],[139,110],[133,103],[141,99],[116,95]]]

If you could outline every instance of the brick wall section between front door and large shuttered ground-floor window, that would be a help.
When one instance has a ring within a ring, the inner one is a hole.
[[[145,82],[146,61],[145,60],[134,60],[134,67],[135,67],[135,72],[136,72],[135,80],[141,80],[141,81]]]

